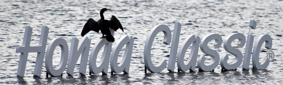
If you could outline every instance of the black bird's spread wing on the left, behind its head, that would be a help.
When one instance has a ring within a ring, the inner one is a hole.
[[[89,18],[88,22],[86,22],[85,26],[83,26],[83,30],[80,35],[83,37],[85,34],[87,34],[91,30],[98,33],[100,29],[98,28],[97,21],[94,21],[92,18]]]

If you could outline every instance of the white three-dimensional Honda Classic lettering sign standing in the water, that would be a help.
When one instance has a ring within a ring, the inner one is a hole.
[[[181,30],[181,24],[175,23],[174,32],[173,32],[173,38],[171,34],[171,30],[166,25],[157,25],[152,28],[152,30],[149,32],[147,36],[147,40],[144,46],[144,62],[145,67],[150,72],[161,72],[163,69],[165,69],[168,65],[167,70],[170,72],[174,72],[175,68],[175,62],[177,59],[177,67],[179,71],[185,72],[187,70],[195,71],[195,65],[196,61],[198,61],[197,66],[200,71],[211,71],[214,70],[217,65],[220,63],[221,67],[225,70],[230,69],[237,69],[241,63],[243,62],[243,69],[246,69],[246,67],[249,67],[250,57],[251,54],[251,48],[253,47],[252,43],[254,40],[254,36],[249,34],[248,39],[246,40],[246,37],[242,33],[234,33],[231,35],[228,35],[225,40],[223,47],[224,49],[230,53],[231,55],[228,56],[228,54],[225,55],[219,55],[217,51],[211,49],[208,47],[208,43],[211,40],[215,40],[214,48],[220,48],[222,45],[222,37],[219,34],[210,34],[205,36],[200,40],[199,36],[196,35],[190,35],[183,43],[181,43],[181,47],[178,50],[178,43],[179,43],[179,36],[180,36],[180,30]],[[30,46],[31,41],[31,35],[32,35],[32,28],[27,26],[25,28],[24,33],[24,40],[22,47],[17,47],[16,52],[21,53],[20,60],[19,60],[19,66],[18,66],[18,72],[17,76],[24,76],[24,71],[27,63],[27,57],[29,52],[37,52],[37,59],[35,64],[35,76],[41,76],[42,72],[42,64],[44,60],[44,54],[46,49],[46,43],[47,43],[47,36],[48,36],[49,28],[47,26],[42,26],[41,36],[40,36],[40,42],[38,46]],[[165,60],[162,60],[160,64],[154,65],[151,60],[151,47],[152,42],[154,41],[154,37],[157,35],[157,33],[163,32],[164,33],[164,40],[163,43],[166,45],[170,45],[171,39],[171,50],[170,50],[170,57],[169,57],[169,63]],[[114,35],[114,30],[111,29],[111,34]],[[236,49],[235,47],[231,46],[232,41],[236,40],[237,45],[239,48],[243,47],[245,43],[249,43],[249,45],[246,45],[247,55],[245,54],[244,59],[243,53],[241,53],[240,50]],[[259,51],[261,49],[261,45],[265,43],[266,49],[272,48],[272,38],[270,35],[261,35],[256,40],[256,43],[254,44],[254,49],[252,50],[252,66],[254,69],[266,69],[269,65],[270,60],[274,59],[274,53],[268,54],[268,57],[265,57],[264,60],[259,63]],[[67,74],[70,76],[73,76],[75,64],[78,62],[78,59],[81,56],[80,60],[80,68],[79,73],[81,75],[85,75],[86,73],[86,67],[87,62],[89,58],[89,69],[90,73],[93,74],[107,74],[108,73],[108,66],[109,66],[109,60],[110,60],[110,67],[111,72],[113,73],[120,73],[124,72],[124,74],[129,73],[129,67],[130,67],[130,61],[131,61],[131,55],[132,55],[132,49],[134,44],[134,39],[129,36],[123,36],[116,45],[113,46],[113,51],[111,53],[112,49],[112,43],[108,42],[105,38],[101,38],[98,41],[96,41],[96,44],[93,46],[90,55],[87,55],[90,50],[90,44],[91,40],[88,38],[83,38],[82,40],[79,40],[77,38],[72,38],[71,46],[70,46],[70,53],[68,50],[68,44],[67,42],[62,38],[56,38],[53,39],[50,44],[47,46],[47,52],[45,56],[45,67],[47,70],[47,73],[52,76],[60,76],[67,67]],[[184,62],[184,56],[185,52],[188,49],[188,47],[192,44],[190,56],[188,57],[188,60]],[[57,68],[53,67],[52,64],[52,56],[53,52],[55,50],[55,47],[59,45],[61,47],[61,59],[59,66]],[[98,55],[99,50],[101,47],[104,47],[103,55],[101,57],[101,60],[99,61],[99,64],[96,64],[96,58]],[[123,59],[120,64],[117,64],[118,55],[120,50],[123,46],[126,45],[125,53],[123,56]],[[198,48],[206,54],[202,55],[199,58],[198,56]],[[173,49],[173,50],[172,50]],[[178,54],[178,55],[177,55]],[[212,61],[206,65],[205,62],[205,56],[212,57]],[[229,57],[234,56],[236,59],[231,63],[228,64]],[[268,59],[269,58],[269,59]],[[245,67],[244,67],[245,66]]]

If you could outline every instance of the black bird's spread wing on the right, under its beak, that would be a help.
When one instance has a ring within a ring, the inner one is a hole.
[[[119,28],[124,32],[123,26],[121,25],[120,21],[112,15],[111,20],[107,21],[108,26],[113,30],[118,30]]]

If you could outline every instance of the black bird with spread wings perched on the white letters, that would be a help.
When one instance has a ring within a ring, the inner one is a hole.
[[[100,10],[100,17],[101,19],[99,19],[97,22],[94,21],[92,18],[88,19],[88,22],[85,23],[85,26],[83,27],[82,33],[80,34],[82,37],[87,34],[89,31],[95,31],[95,32],[99,32],[99,30],[102,33],[102,37],[101,38],[106,38],[106,40],[108,42],[114,42],[115,38],[111,35],[110,29],[113,30],[118,30],[119,28],[124,32],[123,30],[123,26],[121,25],[120,21],[112,15],[111,20],[105,20],[103,13],[105,11],[108,11],[110,9],[106,9],[103,8]],[[106,35],[106,36],[104,36]]]

